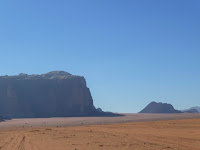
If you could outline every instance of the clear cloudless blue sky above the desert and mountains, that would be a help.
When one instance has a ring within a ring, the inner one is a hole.
[[[200,1],[0,0],[0,75],[53,70],[103,110],[200,106]]]

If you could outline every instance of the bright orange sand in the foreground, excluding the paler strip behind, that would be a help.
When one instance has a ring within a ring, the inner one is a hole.
[[[0,129],[0,150],[199,150],[200,119]]]

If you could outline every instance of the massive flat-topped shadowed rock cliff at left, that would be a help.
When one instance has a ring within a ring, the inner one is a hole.
[[[56,71],[0,77],[0,114],[8,117],[91,116],[97,111],[84,77]]]

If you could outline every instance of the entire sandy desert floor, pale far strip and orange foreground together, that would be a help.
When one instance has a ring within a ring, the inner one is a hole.
[[[0,150],[199,150],[200,114],[13,119]]]

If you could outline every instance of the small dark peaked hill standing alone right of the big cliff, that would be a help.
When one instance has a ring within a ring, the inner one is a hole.
[[[139,113],[182,113],[174,109],[171,104],[151,102]]]

